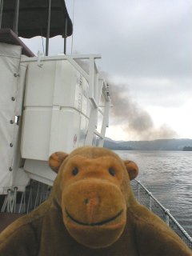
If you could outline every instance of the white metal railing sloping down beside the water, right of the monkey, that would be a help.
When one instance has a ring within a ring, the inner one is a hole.
[[[162,204],[158,202],[156,198],[154,198],[153,194],[151,194],[151,192],[142,185],[142,182],[134,179],[131,182],[131,185],[138,202],[146,206],[148,209],[154,212],[154,214],[158,215],[158,217],[162,218],[162,220],[166,222],[167,226],[170,226],[170,228],[174,230],[174,232],[178,234],[180,238],[182,238],[183,242],[185,242],[186,245],[192,249],[192,238],[173,217],[173,215],[170,214],[170,210],[167,210],[164,206],[162,206]]]

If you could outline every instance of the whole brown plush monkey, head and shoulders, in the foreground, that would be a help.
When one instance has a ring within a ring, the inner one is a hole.
[[[82,147],[50,156],[58,172],[50,198],[8,226],[0,255],[190,256],[178,235],[134,198],[138,166],[114,152]]]

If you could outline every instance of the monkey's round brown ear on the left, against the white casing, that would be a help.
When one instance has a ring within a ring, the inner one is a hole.
[[[59,167],[61,166],[62,162],[68,157],[68,154],[64,152],[55,152],[54,154],[50,155],[49,158],[49,166],[55,173],[58,174]]]

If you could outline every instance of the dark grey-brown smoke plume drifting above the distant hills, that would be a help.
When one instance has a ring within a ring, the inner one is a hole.
[[[113,124],[121,124],[122,129],[135,140],[174,138],[176,132],[165,124],[155,127],[150,114],[134,102],[127,92],[127,86],[117,86],[110,82],[110,97],[113,107]]]

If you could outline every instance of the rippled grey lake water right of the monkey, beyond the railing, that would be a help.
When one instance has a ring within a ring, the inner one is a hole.
[[[136,162],[137,179],[192,236],[192,152],[116,151]]]

